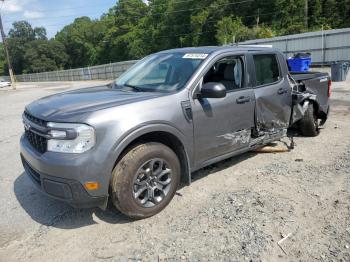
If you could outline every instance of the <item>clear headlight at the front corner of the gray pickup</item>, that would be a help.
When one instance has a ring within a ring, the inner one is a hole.
[[[48,123],[51,128],[47,151],[83,153],[95,145],[95,130],[84,124]]]

